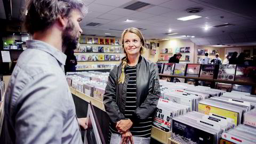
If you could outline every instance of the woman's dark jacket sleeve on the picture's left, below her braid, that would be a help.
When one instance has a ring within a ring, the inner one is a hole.
[[[106,113],[113,123],[117,123],[121,119],[125,119],[116,103],[116,84],[117,82],[117,67],[114,67],[108,76],[108,83],[105,89],[103,102],[105,105]]]

